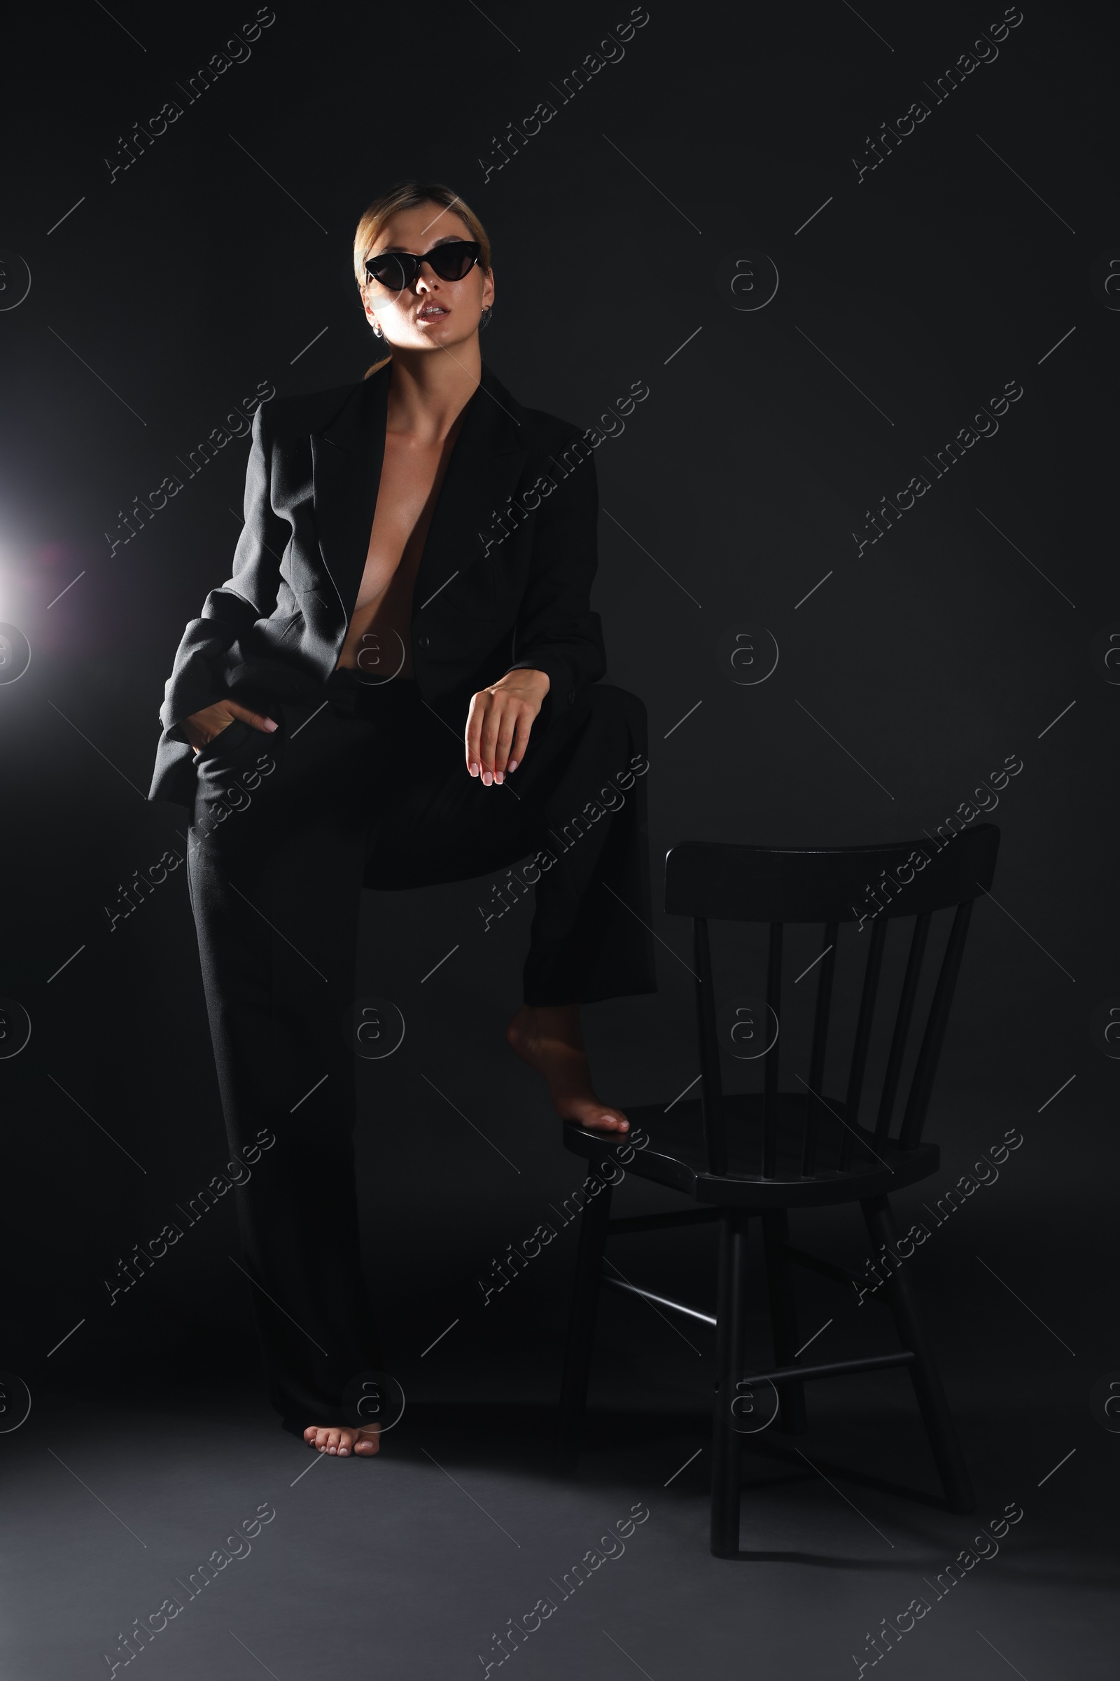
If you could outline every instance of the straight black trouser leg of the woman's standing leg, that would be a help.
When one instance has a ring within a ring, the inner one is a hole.
[[[302,718],[309,709],[290,708]],[[233,730],[237,726],[230,726]],[[341,1424],[348,1380],[379,1367],[354,1194],[354,997],[361,810],[354,725],[326,713],[289,738],[205,750],[188,879],[230,1148],[264,1136],[237,1188],[240,1266],[275,1409]],[[227,735],[223,731],[223,735]],[[233,1278],[233,1267],[230,1267]]]

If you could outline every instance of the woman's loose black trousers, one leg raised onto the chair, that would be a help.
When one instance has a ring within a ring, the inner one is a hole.
[[[594,684],[484,788],[462,730],[408,679],[341,671],[322,701],[254,699],[280,730],[235,721],[196,756],[188,881],[228,1143],[265,1145],[237,1187],[242,1264],[272,1404],[302,1432],[354,1422],[348,1385],[383,1363],[354,1190],[361,888],[534,854],[526,1002],[655,992],[646,719],[636,696]]]

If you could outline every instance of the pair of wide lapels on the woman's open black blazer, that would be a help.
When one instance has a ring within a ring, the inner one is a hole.
[[[356,387],[329,425],[311,435],[319,551],[348,620],[358,600],[378,506],[390,366]],[[526,434],[524,410],[484,363],[428,526],[413,614],[482,556],[482,533],[512,496],[524,469]]]

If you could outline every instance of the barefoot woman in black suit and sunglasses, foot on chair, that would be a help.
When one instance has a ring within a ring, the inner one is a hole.
[[[376,1452],[348,1409],[381,1365],[351,1140],[361,888],[534,854],[507,1039],[568,1121],[628,1128],[591,1084],[579,1005],[657,990],[645,708],[596,682],[591,451],[482,365],[490,249],[450,188],[376,200],[354,276],[390,355],[257,408],[233,575],[180,644],[149,793],[193,810],[230,1146],[274,1138],[237,1192],[270,1397],[341,1456]]]

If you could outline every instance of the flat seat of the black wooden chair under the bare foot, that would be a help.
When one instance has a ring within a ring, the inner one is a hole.
[[[892,1140],[877,1145],[871,1131],[856,1126],[853,1131],[858,1143],[853,1140],[853,1160],[841,1172],[840,1145],[848,1135],[843,1125],[845,1104],[838,1098],[824,1098],[828,1108],[818,1111],[816,1172],[804,1177],[801,1140],[808,1101],[808,1096],[799,1093],[779,1093],[776,1098],[779,1146],[774,1178],[762,1178],[761,1093],[724,1096],[729,1158],[725,1175],[710,1173],[707,1168],[699,1098],[673,1103],[668,1111],[657,1103],[623,1104],[630,1133],[641,1131],[650,1140],[635,1150],[631,1162],[623,1165],[628,1173],[668,1185],[697,1202],[759,1212],[882,1197],[929,1178],[940,1167],[940,1150],[934,1143],[922,1143],[915,1150],[902,1150]],[[593,1131],[574,1121],[564,1123],[564,1148],[591,1162],[606,1155],[613,1162],[620,1160],[616,1151],[621,1143],[625,1140],[618,1133]]]

